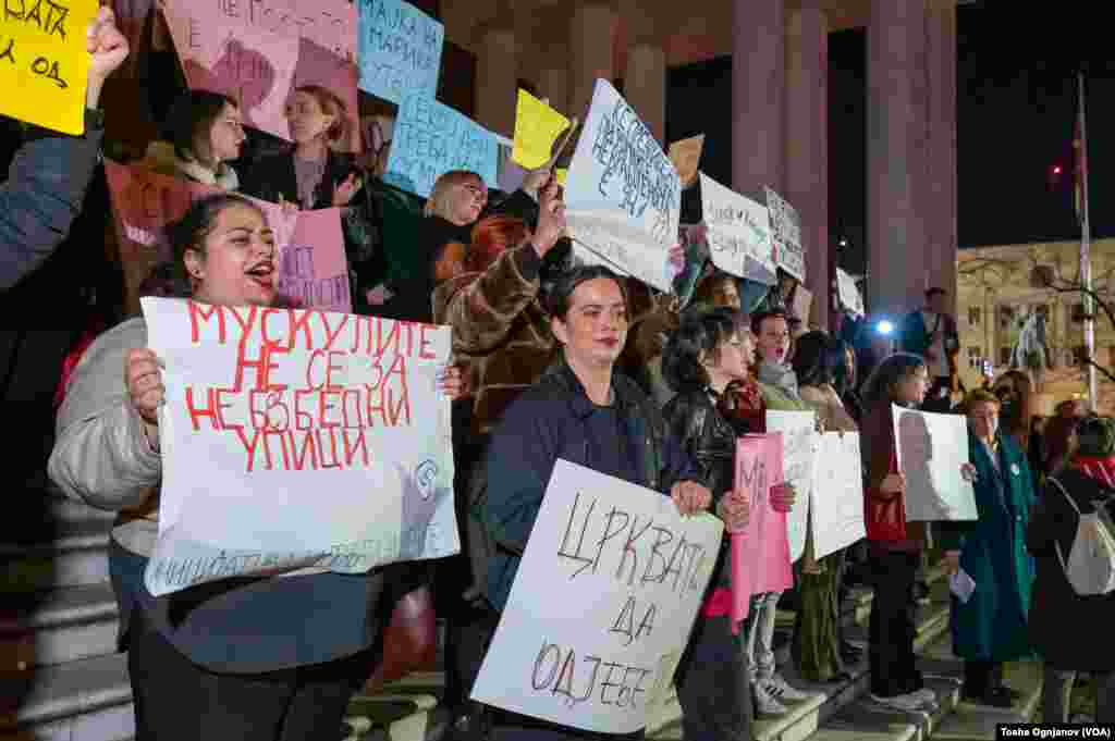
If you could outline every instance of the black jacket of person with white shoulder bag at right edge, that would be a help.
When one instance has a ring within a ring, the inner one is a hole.
[[[1056,475],[1083,514],[1095,501],[1115,509],[1115,490],[1101,486],[1074,468]],[[1034,554],[1036,578],[1030,597],[1030,641],[1050,666],[1063,670],[1115,670],[1115,642],[1107,636],[1115,624],[1115,593],[1082,597],[1073,591],[1057,558],[1067,559],[1076,539],[1078,518],[1054,484],[1047,482],[1030,510],[1026,546]]]

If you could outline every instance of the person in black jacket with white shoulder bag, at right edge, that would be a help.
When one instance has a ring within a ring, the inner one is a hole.
[[[1098,417],[1082,420],[1075,448],[1070,462],[1047,479],[1030,513],[1026,545],[1037,571],[1030,638],[1045,659],[1045,721],[1068,721],[1076,674],[1090,672],[1098,686],[1095,720],[1113,723],[1115,643],[1108,636],[1115,624],[1115,593],[1076,594],[1061,558],[1067,562],[1073,552],[1079,515],[1095,513],[1097,506],[1108,513],[1115,509],[1115,421]]]

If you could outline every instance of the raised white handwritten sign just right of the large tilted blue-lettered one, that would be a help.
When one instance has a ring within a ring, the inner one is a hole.
[[[748,277],[755,262],[774,274],[774,246],[767,207],[700,173],[701,215],[708,230],[712,263],[726,273]]]

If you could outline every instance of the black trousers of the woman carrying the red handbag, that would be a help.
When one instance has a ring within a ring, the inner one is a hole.
[[[910,598],[920,554],[899,550],[871,554],[875,597],[871,604],[867,655],[871,692],[880,698],[924,686],[913,653],[915,603]]]

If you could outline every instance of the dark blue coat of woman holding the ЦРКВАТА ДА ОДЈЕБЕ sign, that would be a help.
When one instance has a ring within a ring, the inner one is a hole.
[[[666,429],[658,408],[624,376],[612,390],[620,429],[634,451],[632,484],[668,494],[678,481],[705,484],[697,466]],[[598,470],[600,448],[589,441],[594,407],[573,371],[559,361],[516,399],[492,435],[483,518],[497,544],[489,557],[487,597],[502,611],[554,464],[559,458]]]

